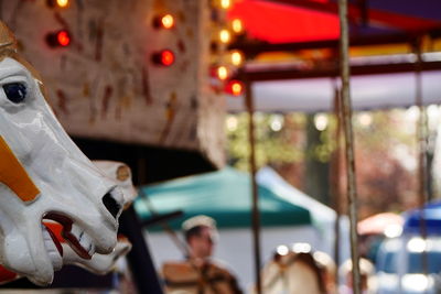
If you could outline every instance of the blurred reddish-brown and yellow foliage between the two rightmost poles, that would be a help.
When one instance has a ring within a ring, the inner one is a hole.
[[[413,208],[418,200],[416,119],[410,110],[354,116],[359,218]]]

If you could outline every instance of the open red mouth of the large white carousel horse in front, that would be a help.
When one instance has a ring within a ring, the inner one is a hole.
[[[95,244],[92,238],[68,217],[58,214],[49,214],[44,217],[46,227],[55,231],[55,239],[66,241],[71,248],[83,259],[92,259],[95,253]],[[53,221],[51,221],[53,220]],[[60,244],[61,246],[61,244]]]

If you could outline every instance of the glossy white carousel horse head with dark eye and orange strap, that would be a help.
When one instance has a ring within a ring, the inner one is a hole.
[[[63,130],[1,22],[0,111],[0,263],[46,285],[63,260],[43,219],[60,222],[72,249],[90,259],[115,248],[125,198]]]

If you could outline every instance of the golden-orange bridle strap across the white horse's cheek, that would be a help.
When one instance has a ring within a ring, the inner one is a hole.
[[[39,188],[1,135],[0,183],[7,185],[23,202],[32,202],[40,194]]]

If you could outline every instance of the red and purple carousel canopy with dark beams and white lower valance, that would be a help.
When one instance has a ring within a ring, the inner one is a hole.
[[[228,12],[246,37],[232,48],[248,57],[238,78],[251,81],[258,111],[332,111],[340,76],[338,7],[334,0],[241,0]],[[351,88],[355,110],[416,105],[417,70],[424,105],[440,104],[441,10],[438,0],[349,1]],[[415,45],[422,39],[422,65]],[[305,62],[306,61],[306,62]],[[244,97],[227,97],[230,112]]]

